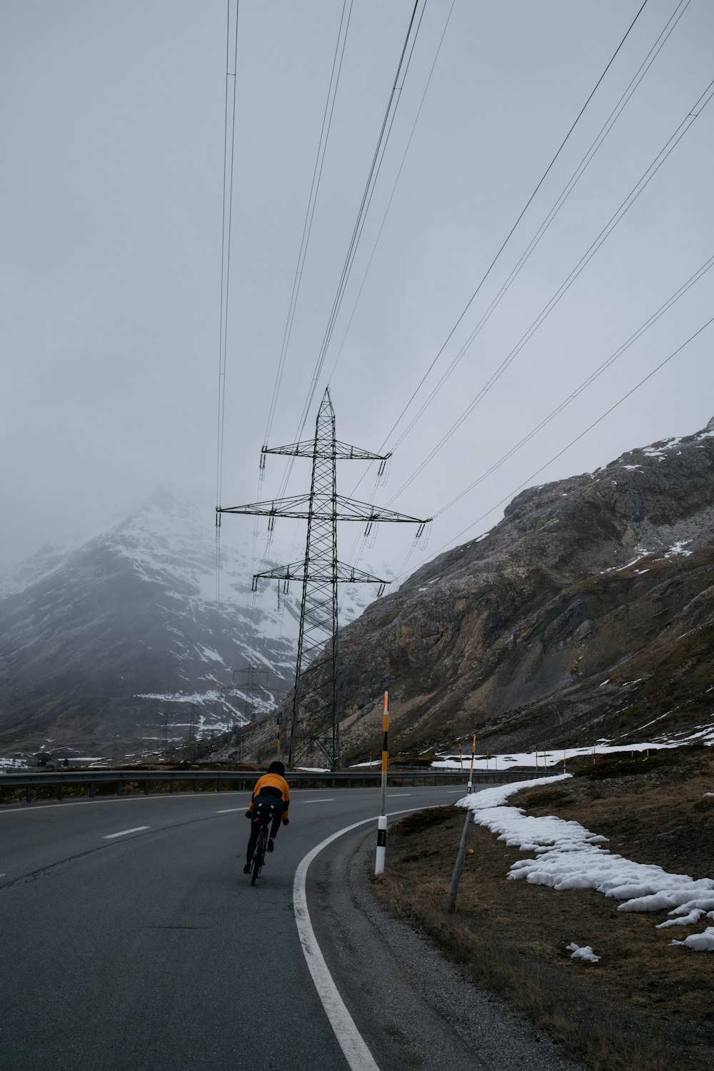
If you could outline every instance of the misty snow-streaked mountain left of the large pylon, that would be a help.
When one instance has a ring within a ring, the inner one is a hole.
[[[265,550],[262,521],[254,556],[253,519],[230,522],[216,544],[209,506],[161,491],[1,576],[0,752],[123,754],[158,746],[165,720],[185,738],[192,707],[200,735],[270,710],[292,684],[300,586],[278,604],[274,583],[254,595],[250,577],[302,550],[277,530]],[[375,594],[350,587],[341,620]]]

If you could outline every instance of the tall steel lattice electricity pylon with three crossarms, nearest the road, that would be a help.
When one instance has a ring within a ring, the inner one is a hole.
[[[247,506],[216,507],[216,525],[221,525],[222,513],[244,513],[267,516],[268,529],[273,530],[275,517],[297,517],[307,521],[305,557],[302,561],[256,573],[253,589],[258,580],[283,580],[287,593],[290,580],[302,580],[300,605],[300,632],[298,635],[298,660],[295,685],[292,693],[292,719],[288,764],[293,767],[299,756],[310,746],[319,746],[333,769],[339,768],[339,719],[337,716],[337,585],[378,584],[382,594],[386,580],[371,576],[352,565],[337,560],[337,522],[366,522],[368,534],[377,522],[419,525],[416,537],[428,521],[410,517],[405,513],[380,509],[368,502],[360,502],[337,494],[337,461],[378,461],[380,474],[390,454],[374,454],[360,447],[351,447],[335,438],[335,411],[332,408],[330,390],[325,390],[315,424],[315,438],[293,442],[287,447],[263,447],[260,467],[265,464],[265,454],[287,454],[291,457],[309,457],[313,462],[310,489],[307,495],[292,495],[267,502],[252,502]],[[323,658],[319,655],[324,652]],[[300,724],[300,700],[315,689],[307,687],[305,678],[314,677],[323,666],[331,668],[330,685],[332,710],[332,745],[319,736],[307,731]]]

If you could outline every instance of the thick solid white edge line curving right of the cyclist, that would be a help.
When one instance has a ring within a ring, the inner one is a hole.
[[[388,817],[392,818],[396,814],[408,814],[410,811],[428,810],[428,806],[406,808],[404,811],[392,811]],[[338,829],[336,833],[332,833],[331,836],[326,836],[324,841],[320,841],[320,843],[316,845],[312,851],[308,851],[307,855],[301,859],[292,883],[292,909],[295,916],[295,925],[298,926],[300,944],[302,945],[303,953],[305,955],[305,960],[307,961],[307,967],[313,976],[317,995],[322,1002],[325,1014],[330,1020],[330,1025],[335,1032],[337,1041],[339,1042],[339,1047],[345,1054],[345,1059],[350,1066],[350,1071],[379,1071],[379,1068],[375,1062],[371,1053],[367,1049],[364,1038],[358,1030],[354,1020],[348,1012],[345,1001],[337,991],[337,986],[333,981],[332,975],[330,974],[322,952],[320,951],[320,946],[317,942],[317,937],[315,936],[315,931],[313,930],[313,923],[310,922],[309,911],[307,910],[306,878],[307,868],[323,848],[326,848],[329,844],[336,841],[338,836],[343,836],[345,833],[349,833],[352,829],[358,829],[360,826],[366,826],[369,821],[376,823],[377,815],[375,815],[374,818],[363,818],[362,821],[355,821],[352,823],[351,826],[345,826],[344,829]]]

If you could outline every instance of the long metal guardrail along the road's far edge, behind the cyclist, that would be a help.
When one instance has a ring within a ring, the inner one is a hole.
[[[492,782],[502,784],[504,782],[526,781],[529,776],[547,776],[556,773],[556,770],[499,770],[486,771],[474,770],[473,782]],[[122,796],[124,789],[130,785],[137,786],[139,793],[145,796],[150,795],[150,786],[156,784],[168,785],[169,795],[178,793],[221,791],[226,786],[233,791],[245,791],[252,789],[259,771],[250,770],[52,770],[48,772],[28,773],[4,773],[0,774],[0,803],[9,802],[3,800],[4,791],[7,788],[25,788],[25,802],[32,802],[33,789],[55,786],[57,788],[57,799],[64,798],[64,788],[67,785],[86,786],[88,799],[94,799],[97,785],[116,785],[117,796]],[[336,770],[334,772],[307,772],[304,770],[290,771],[288,782],[292,788],[368,788],[378,786],[381,771],[375,770]],[[404,787],[405,785],[452,785],[464,784],[466,795],[467,770],[415,770],[415,769],[391,769],[388,771],[388,784],[393,787]],[[181,786],[191,785],[191,788]],[[199,785],[203,785],[199,789]],[[212,785],[212,788],[209,788]],[[46,794],[43,793],[44,798]]]

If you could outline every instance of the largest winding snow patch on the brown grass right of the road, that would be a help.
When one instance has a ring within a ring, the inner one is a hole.
[[[555,815],[540,818],[525,813],[522,808],[507,806],[508,796],[533,785],[551,785],[571,776],[561,773],[551,778],[517,781],[465,796],[457,806],[473,811],[473,820],[486,826],[510,847],[532,851],[532,859],[517,859],[508,871],[510,878],[525,877],[531,885],[551,889],[596,889],[606,896],[621,900],[619,911],[668,910],[672,916],[690,915],[694,910],[714,918],[714,880],[695,880],[687,874],[670,874],[652,863],[637,863],[604,848],[607,838],[591,833],[578,821],[565,821]],[[709,927],[705,936],[714,927]],[[682,942],[679,942],[682,944]],[[692,942],[697,951],[714,950],[712,944]]]

